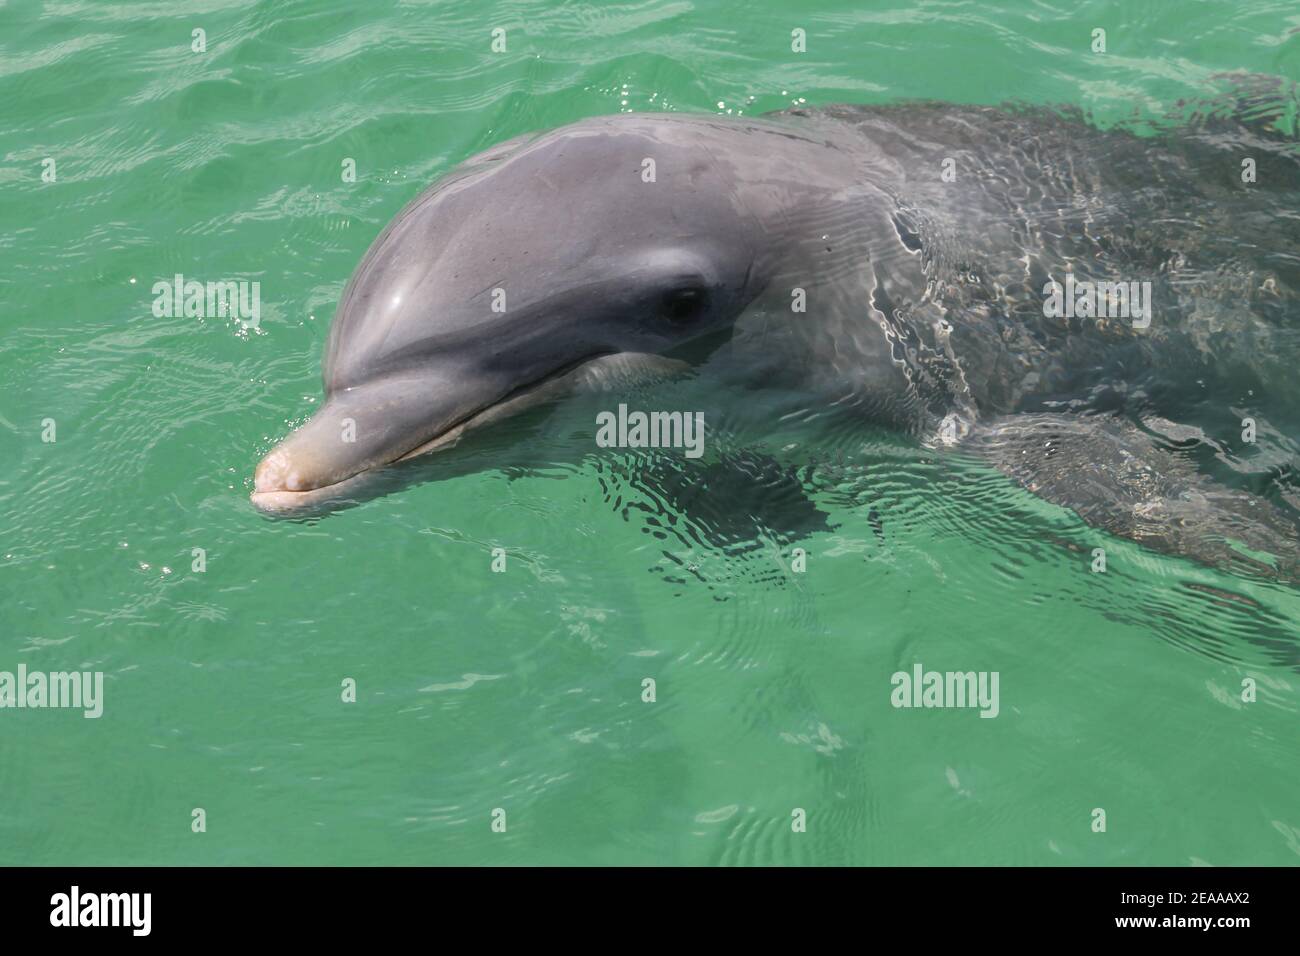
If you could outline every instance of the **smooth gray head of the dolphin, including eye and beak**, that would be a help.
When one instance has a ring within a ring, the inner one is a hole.
[[[590,120],[481,153],[416,198],[348,282],[325,401],[257,466],[254,503],[347,497],[599,363],[718,341],[766,281],[720,133]]]

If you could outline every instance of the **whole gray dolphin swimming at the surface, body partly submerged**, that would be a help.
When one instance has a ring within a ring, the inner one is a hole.
[[[1294,492],[1223,480],[1244,418],[1294,470],[1300,156],[1278,90],[1271,113],[1143,135],[900,104],[503,143],[372,245],[325,401],[252,502],[329,509],[520,408],[725,355],[754,388],[976,455],[1096,527],[1295,580]],[[1123,284],[1130,312],[1053,312],[1053,282]],[[1222,433],[1182,424],[1208,408]]]

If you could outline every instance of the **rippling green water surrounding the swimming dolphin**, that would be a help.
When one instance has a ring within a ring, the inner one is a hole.
[[[996,475],[867,437],[801,522],[634,462],[512,468],[506,431],[494,467],[315,523],[247,494],[367,246],[491,143],[796,101],[1158,116],[1296,77],[1297,27],[1280,0],[0,7],[0,670],[105,675],[99,719],[0,711],[0,864],[1296,864],[1296,594]],[[155,317],[176,273],[260,281],[260,328]],[[915,662],[997,671],[1000,715],[894,709]]]

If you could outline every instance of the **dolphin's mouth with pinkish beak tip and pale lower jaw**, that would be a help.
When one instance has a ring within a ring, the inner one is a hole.
[[[563,365],[537,381],[514,389],[497,401],[454,418],[448,424],[439,427],[432,436],[420,440],[413,446],[395,445],[394,449],[403,450],[390,449],[374,460],[368,460],[361,455],[358,458],[356,467],[338,475],[335,480],[312,481],[308,479],[307,483],[311,486],[295,486],[304,484],[304,481],[295,464],[292,449],[286,446],[290,446],[302,431],[316,421],[313,416],[299,432],[286,437],[261,459],[254,473],[254,490],[248,499],[259,511],[270,515],[302,512],[347,499],[369,479],[373,479],[376,472],[399,462],[448,449],[471,431],[477,431],[493,421],[499,421],[525,408],[560,397],[572,390],[573,385],[577,384],[575,380],[581,378],[586,367],[597,364],[607,356],[610,352],[597,352]],[[324,411],[324,406],[321,411]]]

